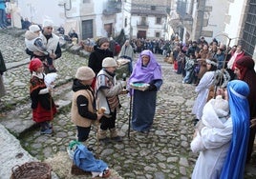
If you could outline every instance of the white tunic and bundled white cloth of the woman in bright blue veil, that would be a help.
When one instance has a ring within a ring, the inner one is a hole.
[[[204,127],[190,144],[193,152],[200,151],[192,179],[218,179],[230,146],[232,119],[220,119],[209,101],[203,108],[202,123]]]

